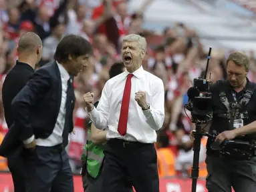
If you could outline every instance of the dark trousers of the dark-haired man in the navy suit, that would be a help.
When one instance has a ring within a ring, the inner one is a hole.
[[[36,146],[24,158],[26,192],[74,192],[68,154],[61,145]]]

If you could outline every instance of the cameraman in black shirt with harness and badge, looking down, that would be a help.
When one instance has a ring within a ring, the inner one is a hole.
[[[209,134],[217,133],[217,137],[207,141],[209,192],[231,192],[231,186],[236,192],[256,190],[256,157],[243,158],[235,147],[231,151],[237,153],[226,151],[223,155],[219,151],[222,149],[216,147],[225,145],[225,140],[256,140],[256,134],[252,134],[256,132],[256,84],[246,77],[249,63],[243,53],[231,53],[227,59],[227,81],[211,85],[213,119]]]

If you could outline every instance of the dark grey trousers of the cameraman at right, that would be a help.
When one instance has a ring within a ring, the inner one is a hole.
[[[256,191],[256,157],[238,161],[207,155],[207,189],[209,192]]]

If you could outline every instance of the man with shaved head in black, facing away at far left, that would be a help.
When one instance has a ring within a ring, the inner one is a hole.
[[[13,124],[11,101],[25,86],[34,72],[35,65],[41,59],[42,41],[35,33],[24,33],[19,39],[17,51],[19,53],[19,61],[16,62],[16,65],[5,77],[2,89],[5,121],[8,127]],[[17,139],[17,141],[19,140]],[[23,146],[21,141],[19,141],[19,145]],[[15,192],[25,192],[25,167],[19,152],[15,151],[13,155],[7,158],[7,161],[13,177]]]

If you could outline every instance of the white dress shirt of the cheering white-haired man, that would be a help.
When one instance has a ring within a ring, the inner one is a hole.
[[[132,88],[128,111],[128,123],[126,135],[118,133],[118,121],[122,105],[124,87],[128,75],[124,71],[120,75],[108,80],[102,90],[102,97],[98,107],[94,107],[88,114],[98,129],[108,127],[107,139],[118,138],[126,141],[139,141],[142,143],[154,143],[156,130],[164,123],[164,84],[162,80],[144,71],[142,67],[132,73]],[[150,109],[142,111],[135,101],[135,93],[146,92],[146,101]]]

